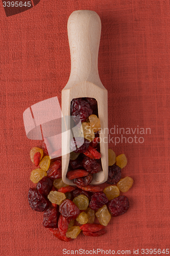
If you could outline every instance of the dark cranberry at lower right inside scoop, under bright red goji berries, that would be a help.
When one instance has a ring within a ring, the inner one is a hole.
[[[102,171],[102,164],[96,159],[85,157],[82,161],[82,165],[87,172],[91,174],[96,174]]]

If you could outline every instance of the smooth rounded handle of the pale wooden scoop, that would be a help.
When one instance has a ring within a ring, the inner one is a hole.
[[[74,11],[68,18],[68,40],[71,72],[68,83],[89,81],[101,85],[98,73],[98,53],[101,19],[90,10]]]

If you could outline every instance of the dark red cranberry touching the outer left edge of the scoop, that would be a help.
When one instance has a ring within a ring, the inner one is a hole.
[[[61,160],[56,160],[50,165],[47,170],[47,177],[50,177],[51,179],[62,178]]]

